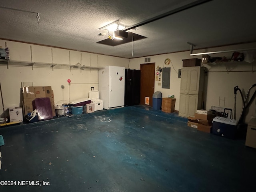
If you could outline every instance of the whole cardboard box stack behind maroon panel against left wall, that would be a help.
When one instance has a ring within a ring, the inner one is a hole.
[[[54,108],[54,94],[51,86],[46,87],[22,87],[24,115],[33,111],[33,100],[36,98],[50,98],[52,116],[56,116]]]

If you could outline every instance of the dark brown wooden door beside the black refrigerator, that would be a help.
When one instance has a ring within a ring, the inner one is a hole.
[[[140,104],[145,105],[149,97],[149,106],[153,106],[152,96],[155,89],[155,63],[140,64]]]

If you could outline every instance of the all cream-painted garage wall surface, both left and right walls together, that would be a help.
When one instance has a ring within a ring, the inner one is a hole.
[[[81,63],[85,66],[104,67],[108,65],[124,66],[130,69],[140,69],[140,64],[145,63],[144,58],[118,58],[112,56],[104,56],[99,54],[90,54],[86,52],[78,52],[74,50],[66,50],[59,48],[50,48],[46,46],[38,46],[33,44],[25,44],[20,42],[4,41],[0,40],[0,46],[4,48],[5,42],[10,50],[11,60],[31,61],[32,47],[32,61],[33,62],[46,62],[57,64],[72,64]],[[207,50],[194,50],[197,52],[210,52],[220,50],[234,50],[242,48],[255,48],[256,44],[240,44],[234,46],[224,46],[218,48],[211,48]],[[161,91],[163,97],[168,95],[174,95],[176,98],[175,110],[179,110],[179,94],[180,94],[180,78],[178,78],[178,69],[182,68],[182,60],[189,58],[202,58],[202,56],[189,56],[190,52],[178,52],[171,54],[162,54],[150,57],[150,63],[156,63],[156,66],[161,68],[170,67],[170,89],[162,89],[162,86],[158,86],[159,81],[155,81],[155,91]],[[222,54],[212,54],[211,57],[226,56],[230,57],[232,52]],[[69,56],[70,55],[70,56]],[[172,61],[170,65],[165,66],[164,60],[170,58]],[[252,64],[238,63],[238,64],[217,64],[205,65],[208,68],[208,83],[206,85],[206,109],[210,109],[211,106],[219,106],[220,99],[225,98],[225,104],[220,102],[222,106],[226,108],[234,108],[234,86],[239,86],[240,89],[247,92],[248,88],[252,84],[256,83],[255,72],[256,62]],[[225,72],[228,70],[248,71],[248,72]],[[221,71],[221,72],[216,72]],[[224,71],[224,72],[223,72]],[[67,79],[71,79],[71,85],[68,86]],[[0,81],[3,91],[4,106],[5,108],[13,106],[22,106],[20,100],[20,87],[21,82],[33,82],[34,86],[52,86],[54,90],[55,103],[61,100],[74,100],[81,97],[88,96],[90,87],[94,86],[95,90],[98,90],[98,71],[97,70],[64,70],[52,68],[33,68],[32,67],[14,67],[6,65],[0,65]],[[64,89],[62,89],[62,85]],[[255,88],[251,90],[253,94]],[[69,94],[70,92],[70,94]],[[240,94],[237,94],[237,113],[236,117],[239,118],[242,110],[242,99]],[[2,114],[2,103],[0,104],[0,114]],[[255,100],[250,106],[246,122],[250,120],[252,116],[256,116]]]

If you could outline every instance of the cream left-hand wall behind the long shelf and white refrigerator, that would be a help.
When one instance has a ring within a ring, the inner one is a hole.
[[[51,48],[46,46],[38,46],[20,42],[0,40],[0,46],[5,47],[5,43],[9,47],[10,60],[56,64],[72,64],[80,63],[85,66],[105,67],[108,65],[128,67],[128,59],[112,56],[104,56],[98,54],[90,54],[86,52],[78,52],[73,50]],[[70,56],[69,56],[70,54]],[[67,80],[71,80],[68,85]],[[34,86],[52,86],[54,91],[55,104],[61,100],[75,100],[78,98],[88,97],[91,87],[98,90],[98,70],[69,70],[54,68],[36,68],[34,67],[16,67],[0,65],[0,81],[4,99],[4,107],[22,106],[20,96],[21,82],[33,82]],[[64,88],[62,88],[64,86]],[[0,114],[2,116],[2,102],[0,104]]]

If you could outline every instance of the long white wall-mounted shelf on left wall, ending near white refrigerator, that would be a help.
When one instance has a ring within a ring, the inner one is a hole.
[[[40,62],[26,62],[26,61],[13,61],[13,60],[1,60],[0,65],[6,65],[7,68],[9,66],[17,66],[17,67],[31,67],[32,70],[34,67],[36,68],[52,68],[54,69],[67,69],[67,70],[99,70],[102,69],[100,67],[92,67],[92,66],[82,66],[82,65],[68,65],[68,64],[56,64],[56,63],[40,63]]]

